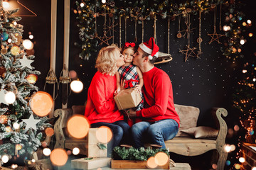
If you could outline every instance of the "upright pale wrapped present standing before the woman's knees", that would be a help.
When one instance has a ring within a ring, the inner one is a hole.
[[[90,128],[87,135],[87,157],[107,157],[107,129],[101,129],[100,135],[102,141],[97,138],[99,128]]]

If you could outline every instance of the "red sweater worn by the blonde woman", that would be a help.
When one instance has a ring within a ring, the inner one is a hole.
[[[124,116],[114,103],[114,91],[117,89],[115,76],[96,72],[88,89],[85,116],[90,123],[114,123],[124,120]]]

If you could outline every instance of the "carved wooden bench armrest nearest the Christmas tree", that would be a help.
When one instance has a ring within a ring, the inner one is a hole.
[[[73,111],[70,108],[59,108],[53,113],[55,118],[58,118],[54,124],[54,134],[56,143],[54,148],[64,148],[65,146],[65,133],[63,128],[67,127],[68,119],[73,115]]]

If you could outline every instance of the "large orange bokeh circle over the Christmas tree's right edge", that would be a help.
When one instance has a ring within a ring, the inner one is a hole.
[[[53,108],[53,98],[45,91],[38,91],[32,96],[30,106],[36,115],[46,116]]]

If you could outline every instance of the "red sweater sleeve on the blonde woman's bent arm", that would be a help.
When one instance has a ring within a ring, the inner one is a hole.
[[[97,113],[105,114],[114,112],[115,103],[114,103],[114,95],[108,94],[108,86],[112,86],[110,81],[106,81],[106,79],[96,79],[90,86],[90,96],[92,103],[95,105],[95,109]]]

